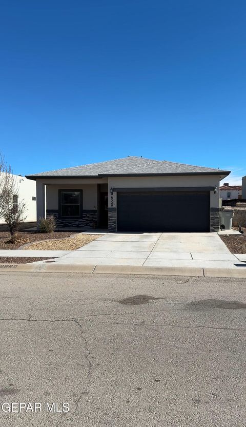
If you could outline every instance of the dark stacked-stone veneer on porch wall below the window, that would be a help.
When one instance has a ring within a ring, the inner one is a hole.
[[[56,220],[57,227],[94,227],[94,224],[97,224],[97,210],[83,210],[82,218],[59,218],[58,209],[47,209],[46,215],[54,215]]]

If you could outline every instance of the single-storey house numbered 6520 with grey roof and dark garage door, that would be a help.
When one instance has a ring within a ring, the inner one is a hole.
[[[127,157],[27,176],[37,218],[109,231],[217,231],[219,182],[230,171]]]

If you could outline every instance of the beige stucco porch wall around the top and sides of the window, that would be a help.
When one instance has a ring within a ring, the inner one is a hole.
[[[58,190],[83,190],[83,209],[97,209],[97,184],[46,185],[46,209],[58,209]]]

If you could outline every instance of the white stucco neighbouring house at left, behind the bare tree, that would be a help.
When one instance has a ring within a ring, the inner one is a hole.
[[[2,172],[4,173],[4,172]],[[26,205],[25,223],[36,222],[36,186],[35,183],[21,175],[12,175],[15,180],[16,193],[13,196],[13,206],[17,206],[20,201]],[[4,218],[0,218],[0,225],[5,224]]]

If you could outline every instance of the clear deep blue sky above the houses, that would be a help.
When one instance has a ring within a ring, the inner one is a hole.
[[[2,0],[0,149],[15,173],[115,158],[246,174],[246,3]]]

